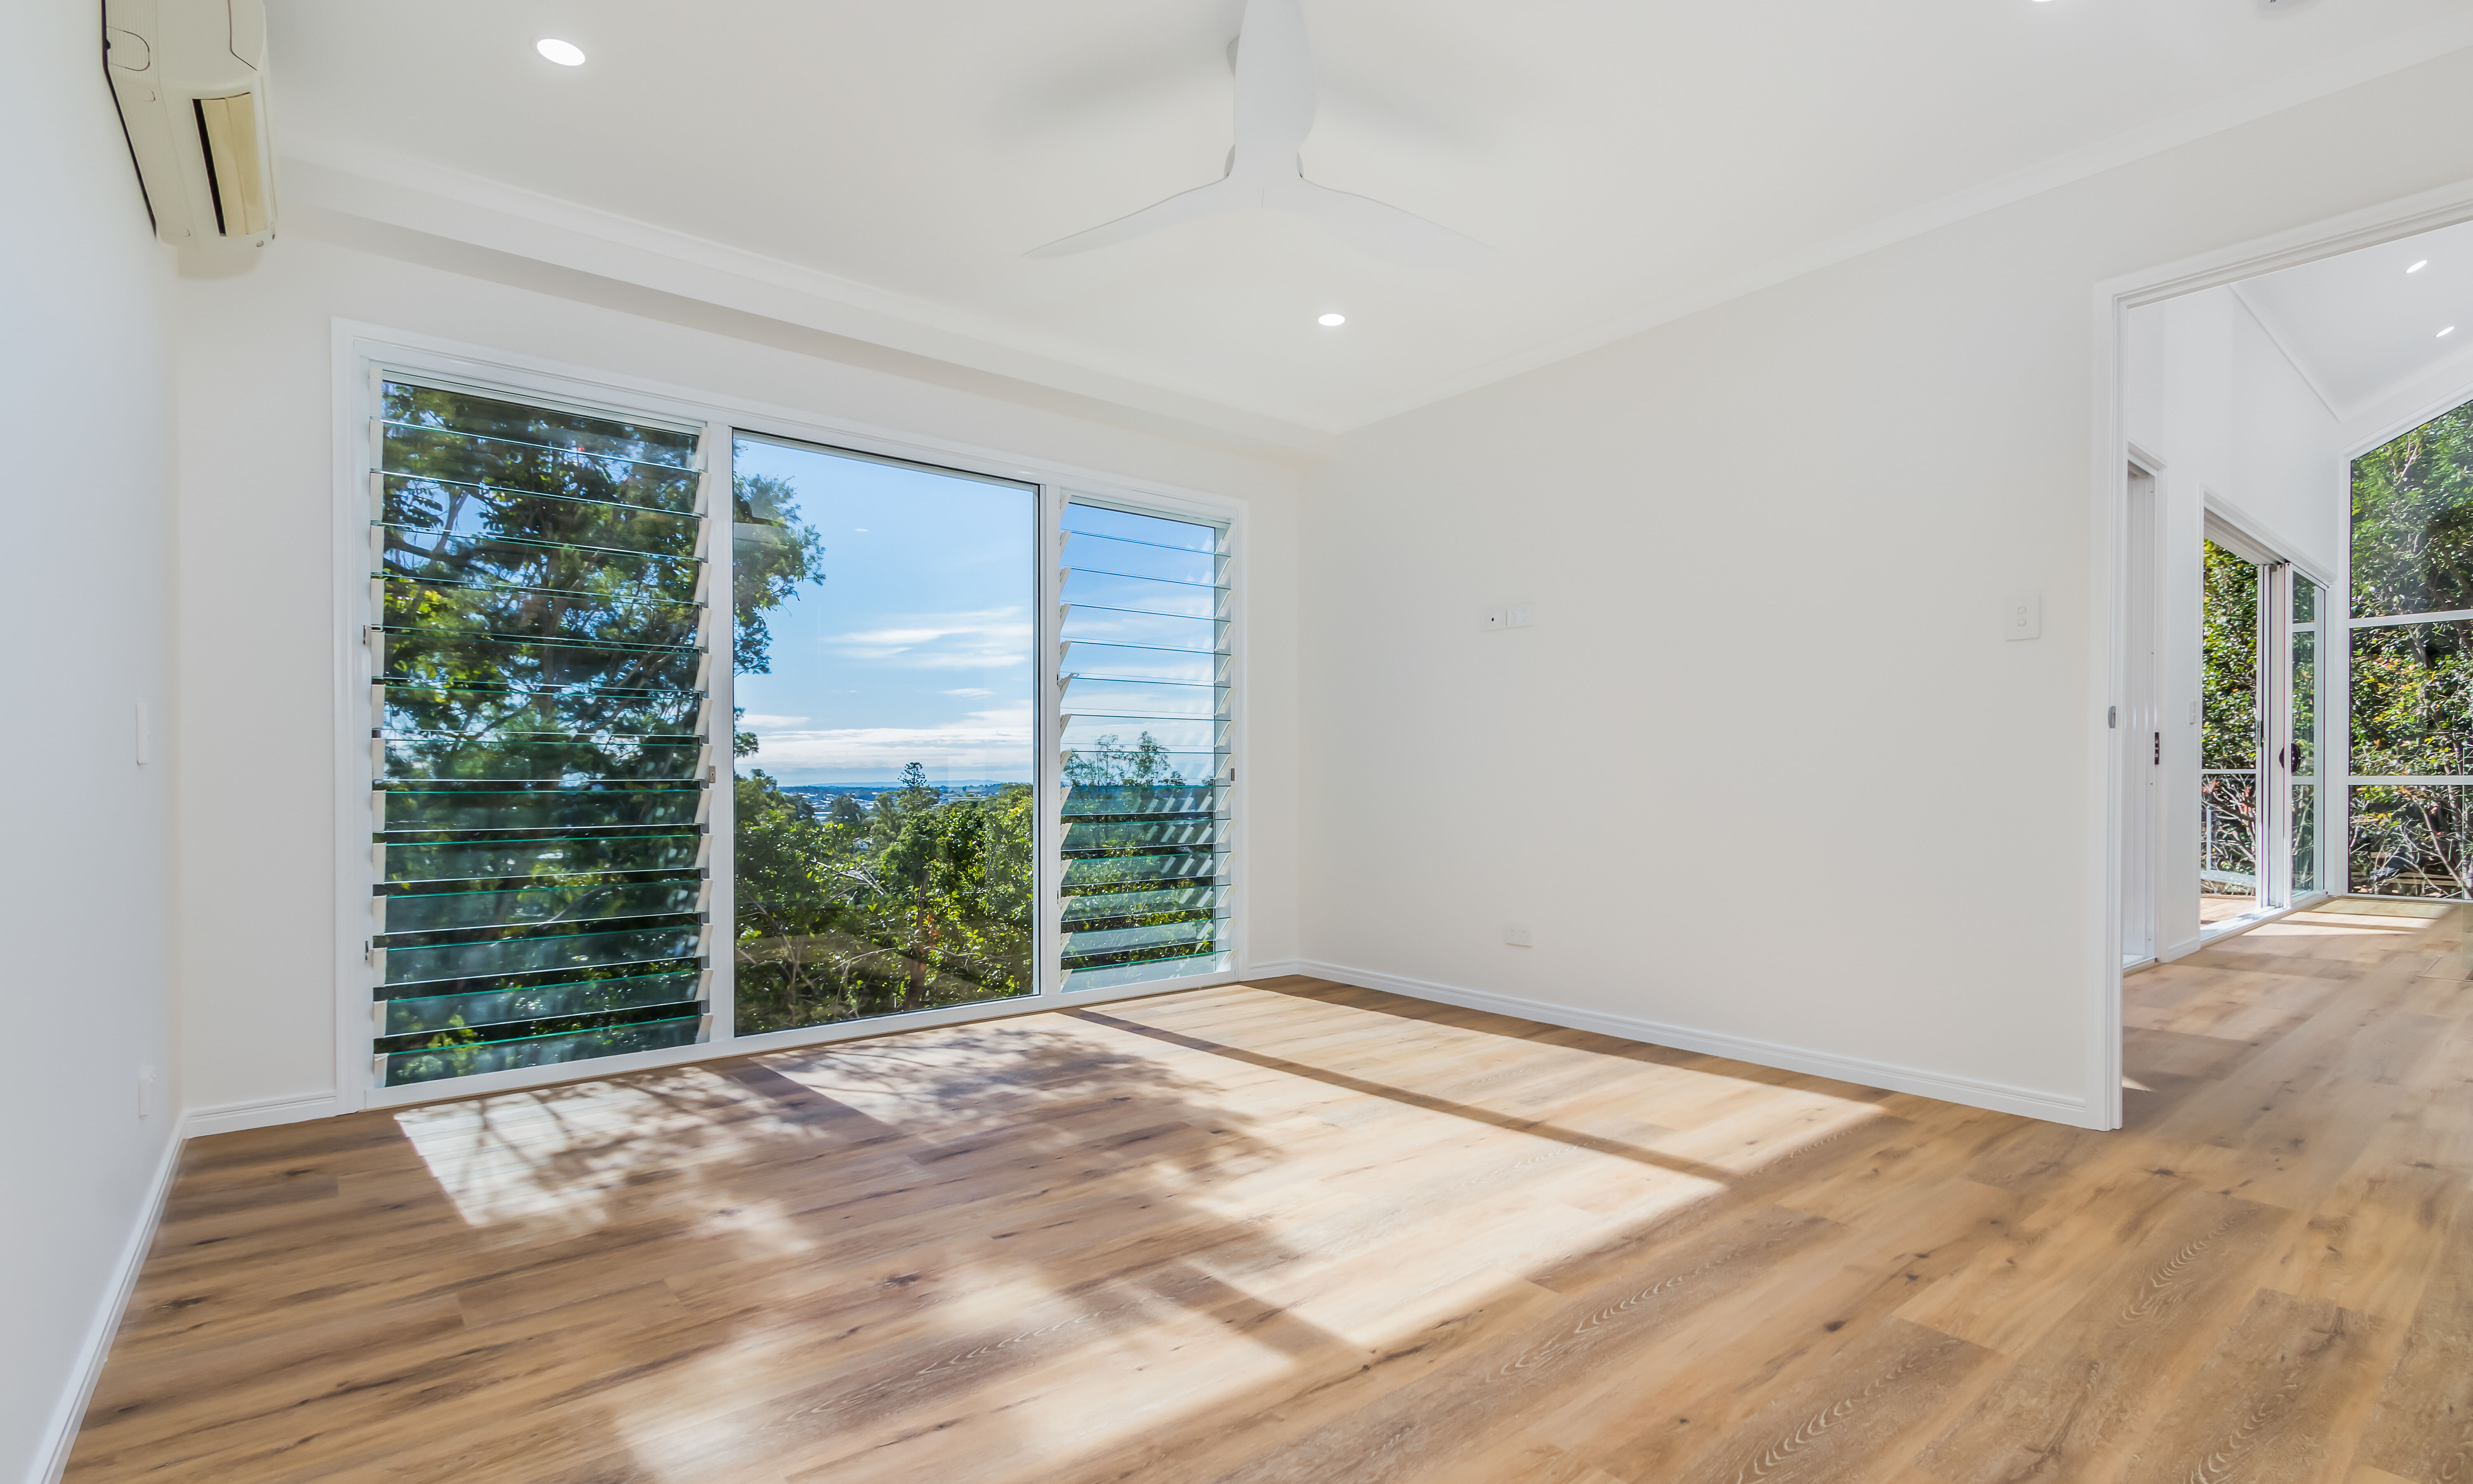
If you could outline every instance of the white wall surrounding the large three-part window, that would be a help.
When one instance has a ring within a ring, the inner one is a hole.
[[[539,282],[594,292],[559,275]],[[245,1120],[267,1103],[297,1113],[309,1106],[299,1101],[336,1091],[334,319],[1249,500],[1249,952],[1296,955],[1293,467],[299,230],[242,277],[181,287],[181,626],[230,636],[195,646],[181,673],[190,740],[181,764],[183,1064],[193,1108]]]

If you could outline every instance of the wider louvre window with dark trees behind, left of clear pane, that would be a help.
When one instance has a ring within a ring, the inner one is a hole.
[[[700,433],[408,378],[378,406],[376,1081],[702,1039]]]

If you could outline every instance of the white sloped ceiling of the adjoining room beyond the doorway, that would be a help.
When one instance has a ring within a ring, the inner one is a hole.
[[[2409,272],[2416,262],[2426,267]],[[2473,364],[2473,223],[2243,279],[2236,292],[2339,418]]]

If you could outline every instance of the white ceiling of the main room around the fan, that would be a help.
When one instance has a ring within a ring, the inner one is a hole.
[[[1303,5],[1306,173],[1491,267],[1271,213],[1021,257],[1219,176],[1241,0],[270,0],[277,148],[1338,430],[2473,42],[2463,0]]]

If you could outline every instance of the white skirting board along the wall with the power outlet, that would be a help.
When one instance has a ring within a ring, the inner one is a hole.
[[[2077,1128],[2095,1128],[2095,1123],[2087,1118],[2087,1101],[2070,1098],[2062,1093],[2013,1088],[2008,1083],[1988,1083],[1966,1076],[1922,1071],[1914,1066],[1894,1066],[1889,1061],[1865,1061],[1860,1056],[1837,1056],[1832,1051],[1810,1051],[1805,1046],[1783,1046],[1778,1041],[1729,1036],[1724,1031],[1694,1031],[1689,1026],[1669,1026],[1662,1021],[1637,1019],[1630,1014],[1580,1009],[1575,1004],[1553,1004],[1548,999],[1518,999],[1513,994],[1494,994],[1491,989],[1459,989],[1457,984],[1407,979],[1400,974],[1382,974],[1377,970],[1350,970],[1348,965],[1323,965],[1308,960],[1298,972],[1316,974],[1321,979],[1338,979],[1340,984],[1355,984],[1360,989],[1387,989],[1392,994],[1407,994],[1410,999],[1432,999],[1437,1004],[1457,1004],[1462,1009],[1486,1009],[1494,1014],[1546,1021],[1551,1026],[1570,1026],[1575,1031],[1622,1036],[1625,1041],[1647,1041],[1649,1046],[1674,1046],[1677,1051],[1704,1051],[1709,1056],[1729,1056],[1734,1061],[1751,1061],[1756,1066],[1776,1066],[1781,1071],[1803,1071],[1810,1076],[1850,1081],[1865,1088],[1917,1093],[1924,1098],[1939,1098],[1944,1103],[1964,1103],[1969,1108],[1993,1108],[1998,1113],[2018,1113],[2023,1118],[2043,1118],[2048,1123],[2072,1123]]]

